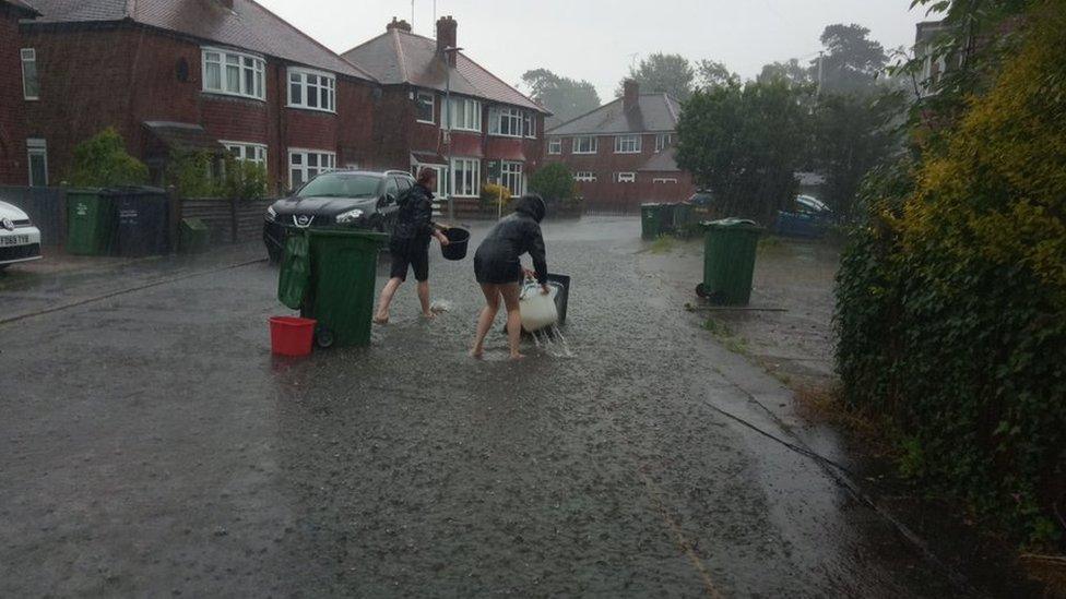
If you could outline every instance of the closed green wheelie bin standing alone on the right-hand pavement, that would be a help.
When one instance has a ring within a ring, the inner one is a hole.
[[[696,287],[696,293],[720,306],[746,306],[751,299],[762,227],[743,218],[723,218],[702,226],[703,283]]]

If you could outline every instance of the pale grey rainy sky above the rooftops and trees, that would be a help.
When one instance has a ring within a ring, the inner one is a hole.
[[[411,20],[411,0],[259,0],[343,52]],[[437,0],[459,22],[459,45],[508,83],[544,67],[614,96],[631,55],[676,52],[725,62],[745,77],[762,64],[817,55],[831,23],[858,23],[886,48],[910,47],[924,20],[910,0]],[[415,0],[415,33],[434,36],[434,0]]]

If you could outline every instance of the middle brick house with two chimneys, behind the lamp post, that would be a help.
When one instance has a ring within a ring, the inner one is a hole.
[[[390,166],[437,169],[440,196],[477,197],[483,181],[523,193],[541,163],[548,112],[460,50],[451,16],[437,22],[436,40],[393,19],[342,56],[382,86],[375,141]]]

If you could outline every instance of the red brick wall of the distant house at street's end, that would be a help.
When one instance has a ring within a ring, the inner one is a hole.
[[[692,178],[687,172],[640,171],[655,155],[656,134],[641,135],[639,154],[615,154],[615,137],[600,136],[596,154],[573,154],[572,136],[562,139],[562,154],[547,154],[544,148],[544,163],[562,163],[571,172],[591,171],[596,175],[595,182],[578,182],[578,193],[592,208],[613,212],[636,212],[645,202],[682,202],[695,193]],[[666,152],[670,152],[668,149]],[[635,183],[616,183],[617,172],[636,172]],[[655,183],[655,179],[677,179],[677,183]]]

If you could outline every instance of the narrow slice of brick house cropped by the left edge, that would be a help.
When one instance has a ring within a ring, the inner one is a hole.
[[[19,43],[19,20],[36,14],[21,0],[0,0],[0,81],[7,82],[0,86],[0,183],[24,185],[31,168],[44,168],[40,153],[26,144],[25,108],[37,95],[37,76]]]

